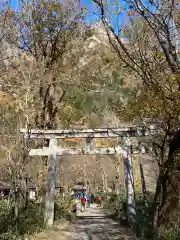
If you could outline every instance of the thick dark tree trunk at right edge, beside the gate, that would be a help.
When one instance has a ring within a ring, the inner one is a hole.
[[[154,230],[171,228],[177,222],[179,195],[180,195],[180,170],[178,164],[177,150],[180,147],[180,132],[175,134],[170,143],[168,160],[163,163],[160,169],[156,193],[155,193],[155,210],[153,225]]]

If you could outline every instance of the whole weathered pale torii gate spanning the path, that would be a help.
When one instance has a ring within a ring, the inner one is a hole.
[[[44,222],[47,227],[53,226],[54,222],[54,196],[56,183],[56,157],[63,155],[123,155],[125,184],[127,194],[128,220],[136,215],[135,198],[133,188],[133,171],[131,158],[130,137],[145,137],[148,133],[143,127],[125,127],[111,129],[60,129],[60,130],[36,130],[21,129],[21,133],[29,139],[49,139],[49,147],[42,149],[30,149],[29,156],[48,157],[48,181],[45,197]],[[57,146],[57,139],[85,138],[84,148],[61,148]],[[123,143],[116,147],[97,148],[93,146],[94,138],[123,138]]]

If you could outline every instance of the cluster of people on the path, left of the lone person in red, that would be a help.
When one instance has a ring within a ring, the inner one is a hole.
[[[86,208],[90,207],[91,200],[92,200],[92,193],[91,191],[75,191],[72,194],[72,199],[74,201],[73,204],[73,211],[76,212],[78,208],[78,202],[81,205],[81,212],[84,212]]]

